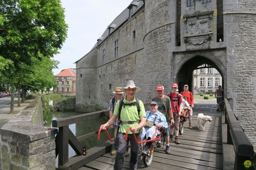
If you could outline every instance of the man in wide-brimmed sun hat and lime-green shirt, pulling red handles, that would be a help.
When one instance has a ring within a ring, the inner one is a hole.
[[[116,152],[114,169],[124,168],[124,155],[128,143],[128,141],[125,140],[125,133],[129,127],[132,127],[128,132],[128,139],[130,140],[131,144],[129,169],[137,169],[139,144],[135,142],[132,133],[135,133],[137,140],[140,141],[142,132],[141,129],[146,125],[146,113],[144,105],[142,101],[135,98],[135,94],[140,90],[141,89],[136,87],[132,80],[129,80],[126,87],[122,88],[122,91],[124,91],[126,94],[125,98],[116,103],[112,118],[104,125],[101,125],[103,130],[106,129],[106,127],[113,125],[117,116],[119,116],[120,120],[122,121],[118,136],[116,138],[118,141],[118,150]]]

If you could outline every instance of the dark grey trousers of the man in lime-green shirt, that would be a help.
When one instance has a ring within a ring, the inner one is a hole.
[[[136,133],[136,138],[138,142],[140,142],[141,133]],[[137,170],[139,144],[135,142],[133,134],[128,134],[128,139],[130,140],[130,144],[131,144],[131,158],[130,158],[129,170]],[[127,144],[128,144],[128,140],[125,140],[125,133],[119,132],[116,141],[118,144],[118,150],[116,152],[114,170],[123,170],[124,155],[125,155]]]

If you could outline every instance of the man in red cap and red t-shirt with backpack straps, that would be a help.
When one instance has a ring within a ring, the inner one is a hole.
[[[172,112],[174,117],[174,125],[170,127],[170,140],[173,138],[173,131],[175,128],[175,143],[180,144],[180,141],[178,139],[179,135],[179,123],[180,123],[180,113],[181,113],[181,104],[182,104],[182,95],[180,95],[178,92],[176,92],[178,89],[178,84],[173,83],[172,84],[172,91],[167,94],[168,97],[171,99],[171,105],[172,105]]]

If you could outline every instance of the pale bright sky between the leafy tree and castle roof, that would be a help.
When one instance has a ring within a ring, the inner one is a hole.
[[[97,43],[108,25],[132,0],[61,0],[65,8],[68,37],[54,60],[60,61],[54,75],[67,68],[76,68],[74,62],[86,55]]]

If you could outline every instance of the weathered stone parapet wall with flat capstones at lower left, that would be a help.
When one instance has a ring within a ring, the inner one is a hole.
[[[42,126],[41,97],[37,97],[0,129],[1,170],[55,169],[57,129]]]

